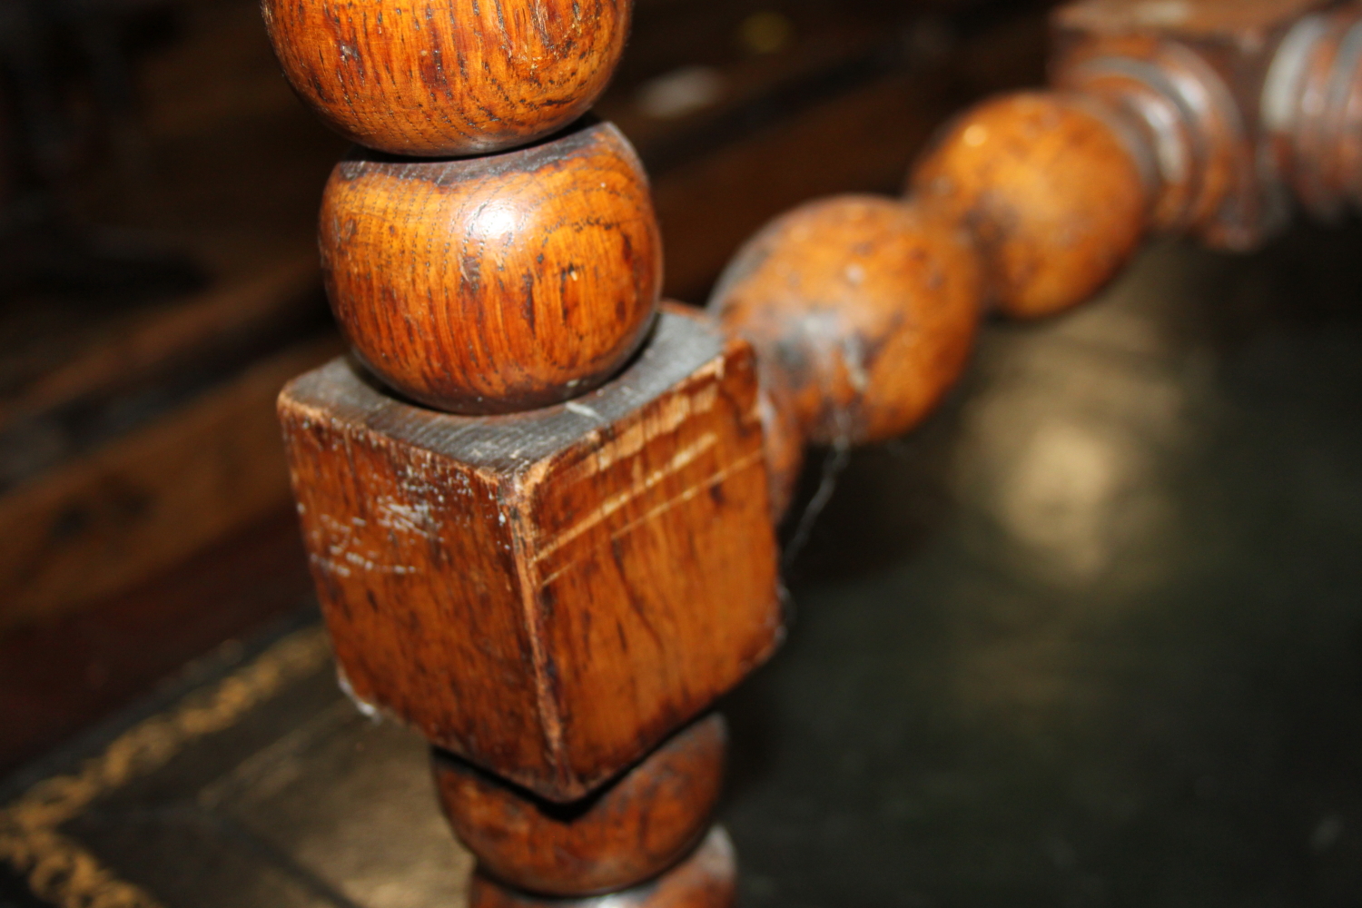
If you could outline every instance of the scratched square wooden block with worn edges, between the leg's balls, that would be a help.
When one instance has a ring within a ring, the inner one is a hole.
[[[531,414],[414,407],[346,361],[293,383],[354,694],[557,802],[707,709],[782,633],[756,385],[750,347],[680,309],[618,378]]]

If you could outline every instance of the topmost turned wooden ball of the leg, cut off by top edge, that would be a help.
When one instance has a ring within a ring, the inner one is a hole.
[[[409,155],[486,154],[595,102],[629,0],[263,0],[294,90],[343,136]]]

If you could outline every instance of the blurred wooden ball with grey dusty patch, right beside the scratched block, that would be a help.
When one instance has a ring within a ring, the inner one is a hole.
[[[778,218],[710,302],[757,348],[772,402],[817,444],[917,425],[960,374],[983,298],[964,231],[911,204],[836,196]]]

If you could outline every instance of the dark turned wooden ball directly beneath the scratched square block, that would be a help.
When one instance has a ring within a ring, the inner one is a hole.
[[[528,892],[627,889],[704,834],[723,784],[727,728],[710,715],[582,803],[553,805],[434,751],[440,803],[485,874]]]

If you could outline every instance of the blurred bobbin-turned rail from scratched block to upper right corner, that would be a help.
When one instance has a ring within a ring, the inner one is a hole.
[[[858,219],[832,201],[797,208],[749,241],[711,306],[761,355],[775,513],[801,437],[877,441],[932,408],[972,338],[951,299],[972,293],[1007,316],[1050,316],[1099,291],[1150,231],[1249,249],[1284,223],[1287,192],[1324,219],[1362,200],[1362,142],[1351,129],[1362,123],[1362,5],[1302,16],[1321,8],[1061,8],[1057,90],[972,108],[910,174],[908,207],[936,222],[934,240],[959,238],[949,278],[928,270],[941,299],[893,286],[895,256],[874,257],[874,230],[849,229]],[[959,339],[934,363],[889,348],[933,329]],[[866,368],[884,362],[892,366]]]

